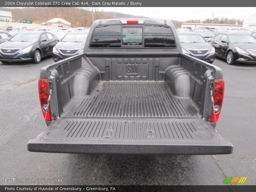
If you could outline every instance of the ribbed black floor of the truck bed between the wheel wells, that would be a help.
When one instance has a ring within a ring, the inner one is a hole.
[[[72,99],[63,117],[199,118],[192,100],[175,98],[165,82],[100,82]]]

